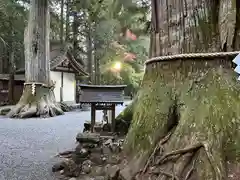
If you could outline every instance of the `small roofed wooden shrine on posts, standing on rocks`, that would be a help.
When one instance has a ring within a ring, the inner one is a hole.
[[[126,85],[86,85],[79,84],[80,103],[91,105],[91,132],[96,122],[96,110],[111,110],[111,131],[115,132],[115,107],[123,104]]]

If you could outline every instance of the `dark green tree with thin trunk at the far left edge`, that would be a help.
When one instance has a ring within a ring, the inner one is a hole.
[[[24,1],[22,1],[24,2]],[[25,8],[18,2],[0,3],[0,72],[9,74],[8,103],[14,103],[14,73],[23,59]]]

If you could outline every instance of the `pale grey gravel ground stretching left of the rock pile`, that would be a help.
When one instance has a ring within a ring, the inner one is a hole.
[[[116,114],[123,110],[116,108]],[[101,112],[97,112],[101,119]],[[74,148],[75,136],[90,112],[47,119],[0,117],[0,180],[55,180],[51,167],[58,152]]]

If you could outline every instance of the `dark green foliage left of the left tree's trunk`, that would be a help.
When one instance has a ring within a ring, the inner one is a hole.
[[[14,51],[15,64],[21,64],[23,59],[24,28],[27,20],[27,11],[24,1],[3,0],[0,2],[0,57],[9,59]]]

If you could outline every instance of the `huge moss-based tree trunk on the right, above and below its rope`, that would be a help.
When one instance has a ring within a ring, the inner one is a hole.
[[[150,57],[237,50],[239,5],[227,0],[153,0]],[[228,179],[240,151],[240,90],[232,58],[146,65],[124,147],[131,158],[122,177]]]

